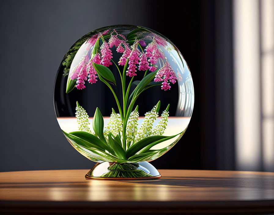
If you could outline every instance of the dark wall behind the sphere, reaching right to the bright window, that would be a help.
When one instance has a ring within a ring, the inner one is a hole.
[[[231,0],[2,1],[0,171],[88,169],[55,118],[54,79],[76,40],[114,24],[170,39],[190,67],[195,105],[183,138],[152,164],[234,169]]]

